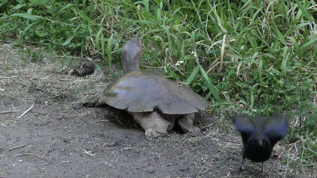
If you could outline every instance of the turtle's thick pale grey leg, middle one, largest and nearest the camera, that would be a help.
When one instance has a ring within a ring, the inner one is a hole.
[[[158,112],[129,113],[145,130],[145,135],[148,138],[158,138],[167,134],[167,128],[171,123],[159,115]]]

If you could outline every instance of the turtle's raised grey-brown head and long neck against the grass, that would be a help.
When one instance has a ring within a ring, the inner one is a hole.
[[[122,50],[121,60],[123,73],[140,70],[142,42],[139,37],[131,39]]]

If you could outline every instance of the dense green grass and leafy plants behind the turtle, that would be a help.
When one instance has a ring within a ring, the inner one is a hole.
[[[316,167],[316,19],[314,0],[0,0],[0,41],[34,61],[44,50],[101,59],[111,74],[139,34],[143,69],[188,84],[213,114],[299,117],[286,140],[301,143],[297,162]]]

